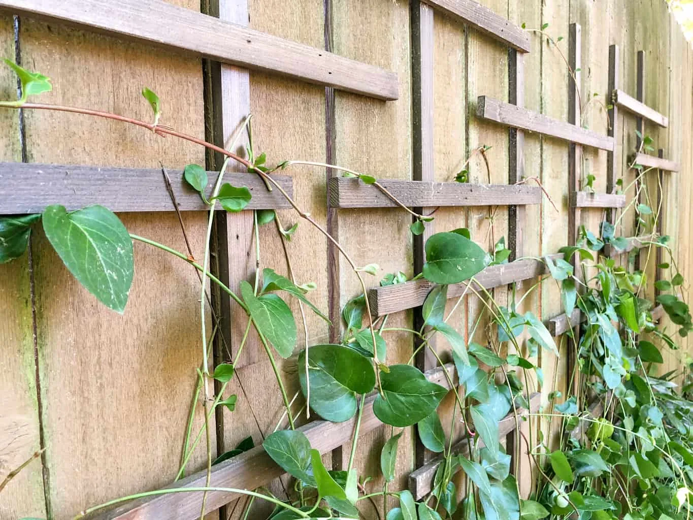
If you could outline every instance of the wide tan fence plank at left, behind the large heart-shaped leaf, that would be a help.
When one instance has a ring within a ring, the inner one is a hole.
[[[177,3],[199,6],[194,0]],[[19,44],[24,63],[53,82],[42,101],[148,119],[151,108],[140,95],[148,85],[164,100],[162,123],[204,137],[200,60],[30,19],[22,20]],[[107,88],[94,80],[94,71],[108,78]],[[200,146],[116,121],[58,112],[24,116],[29,162],[158,168],[161,160],[171,169],[204,164]],[[186,250],[172,212],[120,217],[130,232]],[[193,255],[201,258],[207,216],[192,211],[183,220]],[[130,300],[125,315],[117,315],[69,274],[40,228],[35,238],[46,515],[62,520],[173,480],[195,369],[202,364],[200,280],[186,262],[136,244]],[[200,409],[195,431],[202,424]],[[205,459],[204,450],[194,453],[189,469],[200,469]]]

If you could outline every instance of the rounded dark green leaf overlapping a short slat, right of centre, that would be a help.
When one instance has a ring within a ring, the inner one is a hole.
[[[437,233],[426,241],[423,277],[435,284],[457,284],[489,265],[478,245],[457,233]]]

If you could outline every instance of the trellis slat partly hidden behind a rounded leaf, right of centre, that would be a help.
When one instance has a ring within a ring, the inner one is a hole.
[[[550,254],[552,259],[563,258],[563,253]],[[510,263],[502,263],[498,266],[490,266],[475,276],[476,282],[471,286],[475,291],[481,288],[486,290],[502,285],[523,281],[549,272],[543,261],[535,259],[521,259]],[[428,280],[407,281],[404,284],[396,284],[385,287],[377,287],[368,291],[368,302],[371,312],[376,316],[414,309],[423,305],[426,296],[435,284]],[[448,298],[461,296],[467,287],[467,282],[448,286]],[[472,294],[472,293],[470,293]]]

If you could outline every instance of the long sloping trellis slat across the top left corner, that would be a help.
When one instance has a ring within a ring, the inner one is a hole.
[[[395,73],[163,0],[0,0],[0,11],[59,21],[378,99],[398,98]]]

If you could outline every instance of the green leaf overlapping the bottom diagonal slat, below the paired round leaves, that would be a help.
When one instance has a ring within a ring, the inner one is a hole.
[[[281,469],[315,487],[315,478],[310,474],[310,442],[303,432],[275,431],[267,436],[262,445],[267,455],[272,457]]]

